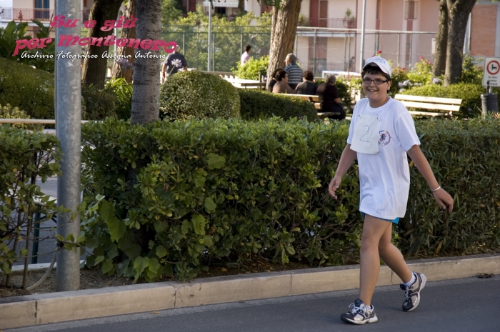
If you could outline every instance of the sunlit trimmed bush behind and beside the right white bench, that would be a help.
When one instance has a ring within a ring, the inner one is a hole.
[[[458,116],[463,119],[481,114],[481,94],[484,94],[484,92],[483,86],[459,83],[450,86],[427,84],[402,91],[401,94],[462,99]]]

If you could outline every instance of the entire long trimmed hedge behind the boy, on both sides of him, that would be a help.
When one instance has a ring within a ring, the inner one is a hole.
[[[87,124],[87,265],[154,281],[171,273],[193,278],[209,264],[256,255],[356,261],[357,167],[344,176],[340,201],[326,190],[348,126],[277,118]],[[416,128],[455,210],[441,211],[411,167],[399,248],[428,256],[499,248],[499,121],[417,121]]]

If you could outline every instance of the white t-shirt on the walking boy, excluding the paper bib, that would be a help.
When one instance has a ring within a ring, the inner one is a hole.
[[[410,189],[410,170],[406,151],[420,145],[411,114],[400,101],[389,99],[376,109],[367,98],[356,103],[347,143],[352,145],[354,127],[360,116],[380,121],[379,153],[357,153],[361,188],[359,211],[382,219],[404,217]]]

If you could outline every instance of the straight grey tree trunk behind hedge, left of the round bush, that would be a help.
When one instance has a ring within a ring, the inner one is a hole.
[[[161,39],[161,0],[137,0],[136,35],[139,39]],[[139,49],[144,56],[160,51]],[[137,58],[134,65],[131,124],[147,124],[159,119],[161,59]]]

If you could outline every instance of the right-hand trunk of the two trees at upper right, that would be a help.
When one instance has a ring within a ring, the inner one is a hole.
[[[447,0],[449,24],[444,73],[445,86],[459,83],[461,79],[465,31],[474,4],[476,0]]]

